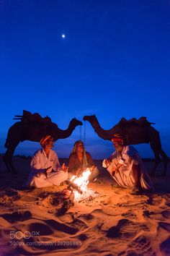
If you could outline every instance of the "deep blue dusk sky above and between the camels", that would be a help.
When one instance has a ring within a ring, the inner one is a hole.
[[[96,114],[104,129],[122,116],[147,116],[170,155],[169,64],[169,0],[0,0],[1,152],[13,116],[26,109],[61,129],[85,114]],[[79,138],[77,127],[58,140],[59,157]],[[23,142],[16,153],[37,148]],[[137,148],[153,156],[148,145]],[[86,150],[94,158],[113,150],[89,123]]]

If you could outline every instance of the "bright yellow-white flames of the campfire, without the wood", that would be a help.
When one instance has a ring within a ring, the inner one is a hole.
[[[79,186],[79,188],[82,191],[82,195],[81,195],[78,191],[76,191],[76,189],[73,190],[74,201],[79,202],[80,200],[83,200],[84,198],[94,194],[94,191],[92,189],[88,189],[87,187],[87,185],[89,184],[90,174],[91,174],[91,169],[86,168],[86,170],[81,174],[81,176],[76,177],[74,175],[71,178],[71,182]]]

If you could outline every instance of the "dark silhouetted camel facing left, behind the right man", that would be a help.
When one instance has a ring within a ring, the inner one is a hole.
[[[151,171],[151,176],[154,176],[156,173],[158,163],[161,161],[160,155],[164,162],[164,172],[161,174],[161,176],[166,175],[166,167],[169,158],[161,148],[159,132],[151,127],[151,124],[154,123],[147,121],[145,116],[138,120],[134,118],[130,119],[129,121],[122,118],[118,124],[107,130],[100,127],[99,121],[95,115],[84,116],[84,121],[89,121],[91,126],[94,128],[94,131],[97,132],[97,135],[103,140],[111,140],[115,133],[120,133],[125,136],[126,145],[149,143],[155,155],[155,164],[153,170]]]

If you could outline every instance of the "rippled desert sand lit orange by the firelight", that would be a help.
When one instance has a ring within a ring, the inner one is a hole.
[[[112,187],[102,161],[96,162],[100,174],[89,184],[96,197],[59,216],[58,195],[66,184],[22,190],[30,158],[14,157],[17,175],[0,159],[0,255],[170,255],[170,170],[153,178],[155,192],[130,195]],[[151,170],[153,162],[145,164]]]

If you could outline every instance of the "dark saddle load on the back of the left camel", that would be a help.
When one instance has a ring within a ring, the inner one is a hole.
[[[49,116],[45,116],[43,118],[42,116],[40,116],[40,114],[38,113],[32,114],[30,111],[27,111],[27,110],[23,110],[22,116],[16,115],[14,117],[14,120],[20,120],[24,122],[39,121],[41,123],[51,122],[51,119]]]

